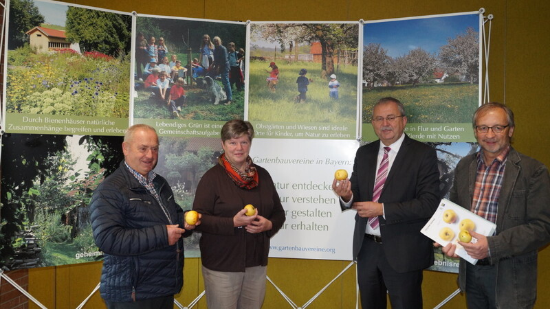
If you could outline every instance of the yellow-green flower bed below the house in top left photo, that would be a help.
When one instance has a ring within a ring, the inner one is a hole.
[[[128,117],[129,59],[8,52],[10,113]]]

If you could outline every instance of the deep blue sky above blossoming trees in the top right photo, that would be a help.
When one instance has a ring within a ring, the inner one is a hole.
[[[405,56],[417,47],[437,54],[448,38],[465,34],[467,27],[479,32],[478,14],[365,23],[363,45],[380,43],[392,58]]]

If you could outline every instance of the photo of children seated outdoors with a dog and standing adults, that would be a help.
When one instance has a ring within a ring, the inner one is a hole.
[[[246,46],[244,23],[138,16],[136,27],[138,37],[149,39],[143,50],[142,41],[135,43],[134,118],[227,121],[244,117],[243,60],[236,52]],[[144,51],[151,63],[160,62],[156,67],[159,76],[166,72],[167,87],[148,78],[151,65],[144,67],[138,57]],[[170,92],[175,85],[177,91]]]

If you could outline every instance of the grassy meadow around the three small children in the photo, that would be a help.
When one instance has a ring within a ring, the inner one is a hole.
[[[336,72],[339,100],[329,98],[329,80],[321,78],[321,68],[314,62],[280,62],[277,90],[267,89],[265,78],[269,62],[250,62],[250,93],[248,119],[272,122],[355,122],[357,113],[357,66],[341,66]],[[295,104],[298,95],[296,78],[300,69],[307,69],[309,83],[307,102]]]

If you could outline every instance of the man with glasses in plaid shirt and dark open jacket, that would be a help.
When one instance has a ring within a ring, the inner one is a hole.
[[[473,125],[481,150],[456,165],[450,199],[496,223],[496,235],[472,231],[477,242],[459,242],[478,259],[461,259],[459,285],[469,309],[532,308],[538,249],[550,241],[548,170],[510,146],[514,113],[504,104],[480,106]],[[448,244],[443,253],[456,258],[455,249]]]

